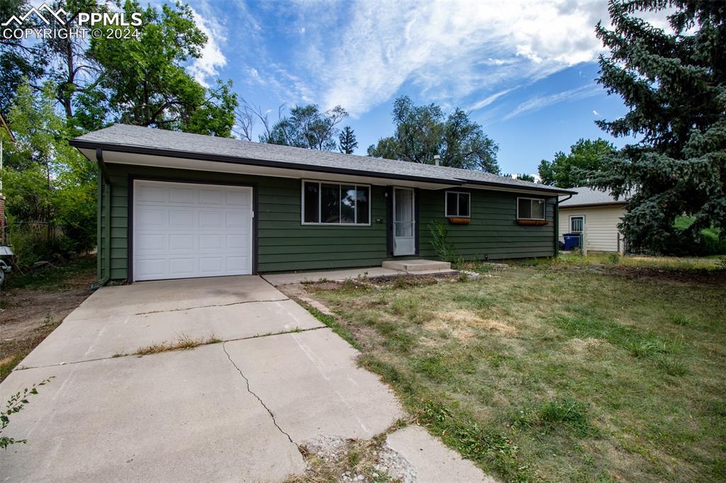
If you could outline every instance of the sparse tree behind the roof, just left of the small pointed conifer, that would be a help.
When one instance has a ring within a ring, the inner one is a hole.
[[[348,112],[343,107],[335,106],[328,111],[321,111],[315,104],[295,106],[289,116],[283,116],[270,129],[269,133],[260,136],[260,141],[269,144],[333,151],[337,148],[335,136]]]

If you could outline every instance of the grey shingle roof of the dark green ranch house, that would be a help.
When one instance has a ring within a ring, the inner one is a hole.
[[[421,165],[414,162],[384,160],[375,157],[339,154],[277,144],[263,144],[238,139],[203,136],[201,134],[164,131],[136,125],[115,124],[99,131],[85,134],[70,141],[80,148],[101,148],[121,152],[158,152],[187,154],[188,157],[213,160],[224,158],[232,162],[253,164],[266,162],[281,168],[319,170],[327,172],[355,172],[362,176],[379,178],[411,178],[452,184],[477,183],[515,189],[534,189],[552,194],[568,190],[497,176],[474,170]],[[113,149],[112,149],[113,148]],[[168,154],[166,154],[168,155]],[[195,156],[196,155],[196,156]],[[185,156],[186,157],[186,156]]]

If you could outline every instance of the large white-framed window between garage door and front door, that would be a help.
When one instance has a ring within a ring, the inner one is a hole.
[[[370,186],[303,181],[303,225],[370,225]]]

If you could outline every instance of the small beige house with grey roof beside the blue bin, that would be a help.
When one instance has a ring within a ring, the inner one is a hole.
[[[572,188],[577,194],[560,198],[560,238],[566,233],[583,233],[588,250],[623,252],[624,239],[618,224],[625,214],[625,199],[616,200],[605,191]]]

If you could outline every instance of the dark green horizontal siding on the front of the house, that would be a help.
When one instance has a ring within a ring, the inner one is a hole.
[[[111,189],[110,278],[127,278],[129,249],[129,175],[166,178],[169,181],[253,184],[257,197],[258,272],[350,268],[380,265],[387,260],[386,188],[372,186],[371,226],[301,225],[301,181],[290,178],[234,175],[208,171],[173,170],[107,164]],[[314,176],[310,176],[314,178]],[[462,191],[462,190],[457,190]],[[465,259],[550,256],[554,247],[553,225],[518,226],[515,194],[504,191],[471,191],[472,222],[449,226],[449,238]],[[444,217],[444,190],[418,190],[420,202],[420,256],[433,258],[430,223]],[[552,220],[553,203],[547,204]],[[99,204],[99,210],[100,210]],[[376,223],[376,220],[382,223]],[[101,216],[105,226],[106,217]],[[105,239],[104,239],[105,240]],[[99,276],[103,276],[99,273]]]

